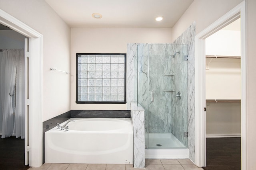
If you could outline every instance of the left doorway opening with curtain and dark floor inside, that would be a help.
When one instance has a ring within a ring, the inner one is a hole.
[[[0,57],[2,61],[0,86],[2,92],[6,84],[6,66],[8,61],[15,71],[11,77],[14,77],[14,85],[12,94],[8,94],[7,100],[10,100],[11,107],[7,111],[3,109],[4,93],[1,93],[1,111],[0,111],[0,139],[1,150],[0,153],[1,169],[26,169],[28,163],[25,162],[25,57],[24,46],[26,37],[9,27],[0,24]],[[13,60],[6,60],[7,58]],[[12,61],[11,63],[9,61]],[[10,79],[8,79],[10,80]],[[9,96],[10,95],[10,96]],[[5,103],[5,104],[4,104]],[[9,103],[9,102],[8,102]],[[5,107],[6,108],[6,107]],[[5,110],[5,111],[4,111]],[[6,116],[8,115],[8,116]],[[11,126],[9,126],[11,124]],[[6,129],[8,127],[8,129]],[[2,129],[4,128],[4,129]],[[15,153],[15,154],[14,154]],[[26,164],[26,165],[25,165]]]

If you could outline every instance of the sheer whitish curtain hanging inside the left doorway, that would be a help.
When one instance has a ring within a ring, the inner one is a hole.
[[[24,138],[24,50],[3,50],[0,58],[0,117],[2,117],[2,138],[10,137],[16,131],[16,137]],[[16,74],[17,72],[17,74]],[[23,72],[23,74],[22,74]],[[16,77],[18,78],[16,80]],[[15,124],[13,119],[12,95],[16,88]],[[14,129],[14,125],[16,129]],[[18,129],[18,131],[17,131]]]

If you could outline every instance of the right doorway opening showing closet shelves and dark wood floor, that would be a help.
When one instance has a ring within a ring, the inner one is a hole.
[[[241,169],[240,18],[206,45],[206,167]]]

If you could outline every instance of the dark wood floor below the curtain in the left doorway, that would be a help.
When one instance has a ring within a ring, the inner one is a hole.
[[[27,170],[24,156],[24,139],[0,136],[0,170]]]

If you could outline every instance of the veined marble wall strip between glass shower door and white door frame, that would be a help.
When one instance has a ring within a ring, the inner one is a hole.
[[[188,45],[188,149],[189,158],[195,162],[195,35],[196,25],[192,23],[173,44]]]

